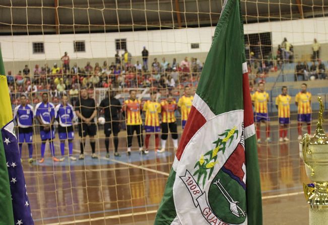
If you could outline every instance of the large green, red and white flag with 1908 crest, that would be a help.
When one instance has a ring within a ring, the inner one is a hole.
[[[154,224],[262,224],[240,0],[225,0]]]

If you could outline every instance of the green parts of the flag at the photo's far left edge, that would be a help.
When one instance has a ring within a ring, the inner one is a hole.
[[[0,51],[0,77],[5,73],[4,62]],[[6,92],[8,95],[8,91]],[[3,96],[0,96],[2,98]],[[2,128],[2,127],[1,127]],[[12,197],[10,192],[7,162],[3,137],[0,132],[0,225],[14,224]]]

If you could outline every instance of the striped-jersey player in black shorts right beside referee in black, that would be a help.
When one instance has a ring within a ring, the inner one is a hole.
[[[142,133],[141,101],[137,99],[137,91],[130,90],[129,93],[130,98],[124,101],[123,106],[126,118],[127,155],[131,155],[132,138],[135,131],[137,133],[139,151],[147,154],[143,150],[144,138]]]

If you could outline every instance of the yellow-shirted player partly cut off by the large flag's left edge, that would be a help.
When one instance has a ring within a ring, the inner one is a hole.
[[[178,110],[181,114],[181,120],[182,120],[182,129],[184,129],[184,126],[187,122],[188,115],[190,113],[190,109],[192,106],[192,100],[193,96],[191,96],[191,89],[189,86],[184,87],[184,95],[179,99],[178,101]]]

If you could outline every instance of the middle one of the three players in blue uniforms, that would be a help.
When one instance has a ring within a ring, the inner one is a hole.
[[[54,121],[54,105],[48,100],[48,93],[42,94],[42,102],[35,106],[35,117],[40,123],[40,136],[41,136],[41,160],[39,163],[44,162],[45,144],[49,140],[50,151],[52,160],[59,162],[55,157],[53,139],[55,138]]]

